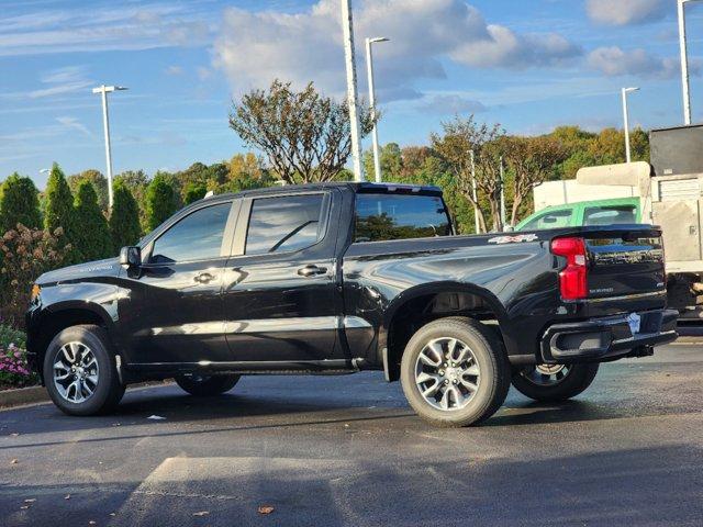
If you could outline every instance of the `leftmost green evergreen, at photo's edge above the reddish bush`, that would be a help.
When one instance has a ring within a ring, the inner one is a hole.
[[[40,228],[42,214],[34,181],[14,172],[0,188],[0,234],[15,228],[18,223]]]

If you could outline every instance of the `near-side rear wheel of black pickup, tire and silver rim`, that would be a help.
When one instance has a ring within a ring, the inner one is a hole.
[[[408,402],[435,426],[469,426],[493,415],[510,389],[503,346],[465,317],[431,322],[413,335],[401,362]]]

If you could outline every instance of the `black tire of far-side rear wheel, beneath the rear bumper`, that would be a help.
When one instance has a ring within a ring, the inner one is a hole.
[[[513,386],[523,395],[542,402],[558,402],[576,397],[591,385],[598,373],[599,363],[570,365],[561,379],[556,375],[544,375],[553,379],[544,383],[535,379],[543,377],[537,367],[521,368],[513,373]]]

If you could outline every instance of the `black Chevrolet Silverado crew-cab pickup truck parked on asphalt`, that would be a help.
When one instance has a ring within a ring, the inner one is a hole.
[[[131,382],[194,395],[243,374],[382,370],[442,426],[490,417],[511,381],[574,396],[600,362],[677,337],[648,225],[455,235],[436,188],[323,183],[201,200],[119,258],[47,272],[27,347],[88,415]]]

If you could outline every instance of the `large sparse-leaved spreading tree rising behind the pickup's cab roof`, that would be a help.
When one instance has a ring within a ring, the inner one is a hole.
[[[371,131],[368,108],[361,133]],[[253,90],[233,102],[230,127],[250,147],[261,150],[288,183],[330,181],[352,153],[346,103],[321,96],[310,82],[302,91],[275,80],[268,90]]]

